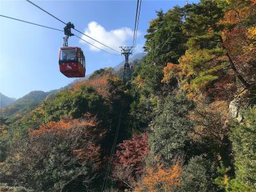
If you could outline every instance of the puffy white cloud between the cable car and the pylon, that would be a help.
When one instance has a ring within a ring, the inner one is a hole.
[[[113,49],[119,50],[120,46],[125,46],[127,40],[130,40],[133,38],[133,30],[131,28],[119,28],[119,29],[114,29],[111,31],[107,31],[104,27],[100,26],[95,21],[92,21],[88,24],[88,28],[84,31],[84,34],[91,36],[92,38],[95,38],[99,42],[102,42],[102,44],[106,44],[109,47]],[[138,36],[140,35],[140,32],[138,31]],[[85,35],[82,35],[81,38],[86,40],[87,42],[90,42],[91,44],[99,47],[100,49],[104,49],[106,51],[111,51],[109,50],[108,47],[105,47],[102,44],[99,44],[98,42],[95,42],[94,40],[88,38]],[[83,40],[79,40],[80,43],[86,44]],[[89,45],[89,44],[87,44]],[[100,51],[96,47],[93,47],[92,45],[90,46],[90,50],[92,51]]]

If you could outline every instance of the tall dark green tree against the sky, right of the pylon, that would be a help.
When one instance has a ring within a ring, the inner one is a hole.
[[[177,63],[185,52],[187,38],[182,31],[182,17],[182,8],[175,6],[167,13],[157,12],[157,18],[150,22],[145,35],[147,56],[138,73],[149,93],[161,90],[163,67],[168,62]]]

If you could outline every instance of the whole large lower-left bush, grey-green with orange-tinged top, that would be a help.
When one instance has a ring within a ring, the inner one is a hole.
[[[96,125],[93,118],[67,118],[43,124],[38,130],[30,129],[29,138],[16,143],[10,152],[12,157],[4,166],[6,175],[15,175],[27,187],[45,191],[61,191],[79,178],[86,186],[100,168],[100,147],[95,140],[100,136],[95,132]],[[52,177],[45,179],[45,175]]]

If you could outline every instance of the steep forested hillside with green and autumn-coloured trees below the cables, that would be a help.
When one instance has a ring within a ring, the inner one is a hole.
[[[131,82],[103,68],[1,124],[0,191],[256,191],[255,20],[156,12]]]

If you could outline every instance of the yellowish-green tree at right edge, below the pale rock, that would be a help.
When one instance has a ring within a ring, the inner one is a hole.
[[[256,107],[243,113],[243,124],[232,129],[230,140],[235,154],[236,179],[242,184],[256,186]]]

